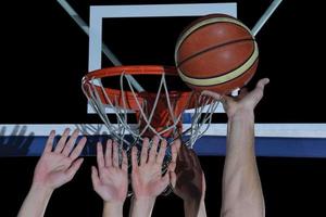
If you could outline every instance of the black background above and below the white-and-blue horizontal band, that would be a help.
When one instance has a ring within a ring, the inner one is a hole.
[[[70,2],[86,21],[89,4],[108,4],[108,1]],[[158,1],[110,2],[127,4]],[[176,1],[160,1],[173,2]],[[198,1],[177,3],[179,2]],[[271,1],[248,0],[238,3],[239,18],[252,27]],[[0,123],[100,122],[96,116],[86,114],[86,100],[80,91],[80,79],[87,73],[87,36],[55,1],[4,1],[1,8],[13,12],[10,16],[8,13],[0,15],[3,21]],[[256,38],[260,46],[260,66],[250,85],[265,76],[271,78],[271,85],[256,110],[258,123],[326,123],[326,107],[322,103],[325,99],[322,79],[324,13],[321,1],[285,0],[260,31]],[[114,24],[105,21],[104,25]],[[177,33],[171,34],[173,36],[167,34],[167,37],[173,40]],[[133,38],[133,34],[130,35]],[[104,33],[103,36],[109,35]],[[129,46],[116,44],[123,55],[122,61],[126,64],[173,64],[174,42],[161,38],[156,41],[156,37],[152,37],[152,40],[153,44],[161,44],[160,49],[166,50],[159,52],[155,47],[153,51],[147,51],[150,55],[146,55],[127,52],[125,49],[130,49]],[[109,39],[105,42],[109,44]],[[148,47],[151,48],[153,47]],[[137,60],[138,55],[143,55],[145,60]],[[200,159],[208,182],[208,215],[218,216],[224,158],[204,156]],[[36,162],[35,157],[0,158],[0,216],[16,215],[28,191]],[[258,163],[266,216],[326,216],[325,159],[259,157]],[[91,190],[90,165],[93,164],[95,158],[87,157],[74,180],[54,192],[47,216],[101,215],[102,202]],[[125,206],[127,210],[128,201]],[[180,200],[171,195],[158,200],[153,216],[181,214]]]

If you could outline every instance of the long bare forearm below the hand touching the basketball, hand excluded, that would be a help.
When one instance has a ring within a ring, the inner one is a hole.
[[[229,118],[226,149],[222,216],[264,216],[264,200],[254,154],[252,111],[241,111]]]

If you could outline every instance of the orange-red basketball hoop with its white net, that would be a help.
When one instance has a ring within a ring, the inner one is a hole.
[[[127,75],[155,76],[160,85],[154,92],[136,92]],[[184,143],[192,148],[196,140],[209,128],[218,102],[190,89],[171,90],[166,84],[167,76],[179,79],[175,67],[114,66],[87,74],[83,78],[82,88],[112,137],[126,151],[133,145],[142,143],[143,138],[153,136],[166,139],[168,143],[183,138]],[[104,87],[102,79],[113,77],[118,77],[120,87]],[[109,108],[113,111],[116,123],[113,123],[113,118],[106,113]],[[183,113],[189,108],[195,111],[191,125],[188,129],[183,129]],[[127,122],[130,111],[136,114],[136,125]]]

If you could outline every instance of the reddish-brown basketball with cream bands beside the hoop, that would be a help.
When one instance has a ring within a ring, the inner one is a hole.
[[[180,78],[193,90],[221,94],[241,88],[258,67],[259,49],[250,29],[226,14],[191,23],[179,36],[175,62]]]

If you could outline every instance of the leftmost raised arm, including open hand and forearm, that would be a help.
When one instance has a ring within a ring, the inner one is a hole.
[[[18,217],[43,216],[52,192],[74,178],[83,163],[83,158],[77,157],[86,143],[86,138],[83,138],[74,148],[78,133],[79,131],[75,130],[67,140],[70,129],[65,129],[52,151],[55,132],[51,131],[45,151],[36,165],[33,184],[20,209]]]

